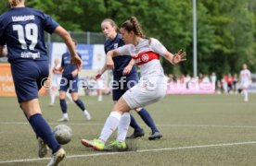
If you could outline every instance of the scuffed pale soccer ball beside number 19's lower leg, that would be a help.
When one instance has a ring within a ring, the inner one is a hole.
[[[68,144],[72,137],[72,130],[68,125],[57,125],[54,127],[53,134],[56,137],[58,144]]]

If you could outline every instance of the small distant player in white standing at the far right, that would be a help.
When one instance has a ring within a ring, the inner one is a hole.
[[[250,85],[250,70],[247,68],[246,64],[243,64],[243,69],[240,72],[240,86],[242,89],[244,101],[249,101],[249,94],[248,94],[249,85]]]

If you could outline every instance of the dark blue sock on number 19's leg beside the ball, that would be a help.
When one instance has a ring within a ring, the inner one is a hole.
[[[47,146],[53,150],[53,153],[58,151],[60,145],[58,144],[50,126],[46,123],[43,116],[39,113],[34,114],[30,117],[29,122],[32,125],[32,129],[36,135],[45,141],[45,144],[47,144]]]

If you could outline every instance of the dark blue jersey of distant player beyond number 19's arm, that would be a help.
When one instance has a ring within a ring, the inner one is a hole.
[[[80,53],[77,53],[77,54],[79,55],[80,58],[82,58]],[[63,73],[62,73],[63,77],[70,76],[72,71],[77,69],[77,65],[71,64],[70,60],[71,60],[71,56],[69,52],[62,54],[61,66],[63,67]]]

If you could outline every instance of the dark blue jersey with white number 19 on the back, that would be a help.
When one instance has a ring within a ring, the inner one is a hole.
[[[8,61],[47,60],[44,31],[58,27],[44,12],[14,7],[0,16],[0,45],[7,45]]]

